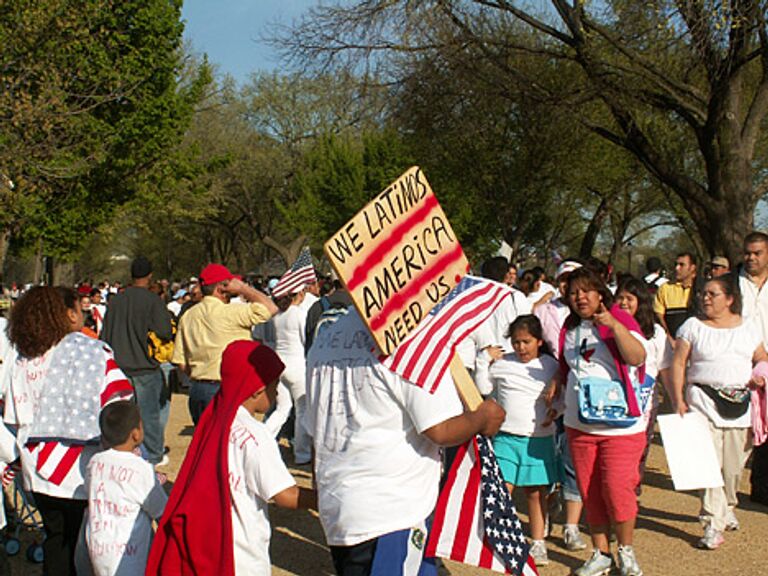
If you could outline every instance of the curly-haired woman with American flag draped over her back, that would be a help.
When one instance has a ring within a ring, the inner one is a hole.
[[[79,330],[83,314],[69,288],[37,286],[11,312],[5,421],[17,428],[24,488],[43,518],[44,572],[75,574],[86,492],[83,475],[99,450],[103,405],[133,389],[103,342]]]

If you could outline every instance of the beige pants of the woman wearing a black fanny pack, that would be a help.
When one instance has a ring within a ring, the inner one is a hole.
[[[737,492],[741,472],[752,451],[749,428],[718,428],[709,421],[709,430],[715,444],[715,452],[723,472],[723,486],[701,491],[701,520],[715,530],[725,530],[728,512],[732,512],[739,500]]]

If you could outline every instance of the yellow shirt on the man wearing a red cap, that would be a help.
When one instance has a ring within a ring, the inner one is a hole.
[[[256,302],[225,304],[206,296],[179,320],[171,362],[190,368],[193,380],[220,380],[221,354],[230,342],[251,340],[251,328],[271,314]]]

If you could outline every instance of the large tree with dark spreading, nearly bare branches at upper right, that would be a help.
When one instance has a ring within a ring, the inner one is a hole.
[[[388,67],[388,53],[464,54],[557,102],[632,154],[680,201],[710,254],[736,260],[766,191],[766,2],[551,0],[536,13],[509,0],[373,0],[319,7],[281,39],[315,66]],[[445,34],[451,27],[452,34]],[[436,31],[436,32],[433,32]],[[548,84],[520,62],[575,79]],[[594,105],[607,118],[596,121]]]

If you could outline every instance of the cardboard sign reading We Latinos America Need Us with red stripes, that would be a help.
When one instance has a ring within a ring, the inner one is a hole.
[[[448,218],[416,166],[358,212],[324,249],[385,355],[469,269]]]

